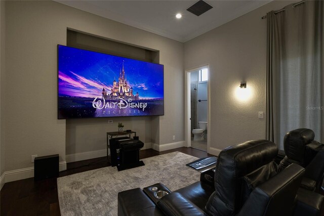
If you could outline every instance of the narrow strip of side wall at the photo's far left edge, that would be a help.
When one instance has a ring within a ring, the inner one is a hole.
[[[6,12],[5,12],[5,2],[0,1],[0,176],[5,171],[5,142],[4,134],[2,132],[3,128],[3,105],[2,102],[3,88],[4,88],[4,73],[5,73],[5,33],[6,33]]]

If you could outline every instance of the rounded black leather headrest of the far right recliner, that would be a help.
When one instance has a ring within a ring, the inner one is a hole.
[[[304,163],[305,146],[314,140],[314,131],[307,128],[299,128],[286,133],[284,138],[284,150],[286,156],[300,163]]]

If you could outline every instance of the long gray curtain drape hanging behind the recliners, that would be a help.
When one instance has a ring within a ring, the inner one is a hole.
[[[323,1],[267,13],[266,139],[283,149],[288,131],[324,142]]]

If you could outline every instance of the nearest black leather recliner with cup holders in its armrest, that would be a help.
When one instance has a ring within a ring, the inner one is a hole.
[[[118,215],[291,215],[304,168],[291,164],[277,173],[277,152],[267,140],[228,147],[218,156],[214,188],[194,183],[160,199],[149,194],[155,193],[152,186],[146,194],[139,188],[123,191]]]

